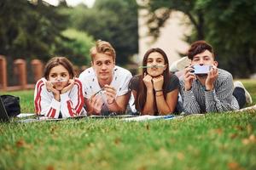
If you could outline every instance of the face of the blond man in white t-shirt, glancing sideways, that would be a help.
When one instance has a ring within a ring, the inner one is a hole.
[[[96,72],[98,81],[112,81],[113,67],[115,65],[112,56],[107,54],[96,54],[91,64]]]

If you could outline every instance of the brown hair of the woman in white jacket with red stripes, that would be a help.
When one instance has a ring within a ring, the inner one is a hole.
[[[67,69],[71,78],[75,77],[73,65],[66,57],[54,57],[49,59],[44,67],[44,78],[46,78],[46,80],[49,80],[49,71],[57,65],[62,65],[65,69]]]

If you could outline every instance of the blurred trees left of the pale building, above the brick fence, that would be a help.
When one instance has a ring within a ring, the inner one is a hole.
[[[131,63],[137,54],[135,0],[96,0],[92,8],[80,4],[58,6],[42,0],[0,2],[0,53],[12,59],[67,56],[75,65],[90,65],[90,48],[97,39],[112,43],[117,64]]]

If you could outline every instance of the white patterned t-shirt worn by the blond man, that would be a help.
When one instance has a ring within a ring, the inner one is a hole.
[[[131,72],[121,68],[119,66],[114,66],[113,68],[113,80],[110,86],[116,89],[116,97],[127,94],[129,92],[129,82],[131,80]],[[84,97],[90,99],[90,97],[98,92],[101,87],[97,80],[96,73],[92,67],[86,69],[79,75],[79,80],[83,83],[84,87]],[[102,111],[108,111],[108,103],[106,101],[104,93],[99,93],[102,95],[102,100],[104,105],[102,106]]]

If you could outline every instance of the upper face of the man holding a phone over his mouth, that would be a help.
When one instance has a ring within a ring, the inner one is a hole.
[[[201,54],[196,54],[191,65],[215,65],[218,66],[218,62],[214,60],[213,54],[209,50],[205,50]]]

